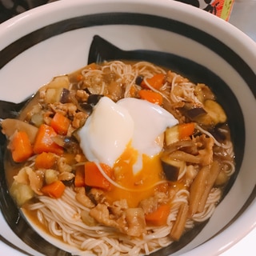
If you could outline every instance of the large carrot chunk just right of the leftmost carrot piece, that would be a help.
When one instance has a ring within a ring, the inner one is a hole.
[[[39,126],[34,141],[34,153],[41,154],[42,152],[51,152],[54,154],[63,154],[62,146],[58,146],[52,139],[57,135],[53,127],[47,126],[46,124]]]

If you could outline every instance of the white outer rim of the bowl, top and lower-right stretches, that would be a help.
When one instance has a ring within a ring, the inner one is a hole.
[[[254,61],[256,59],[256,43],[246,34],[244,34],[241,30],[238,30],[238,28],[234,27],[228,22],[223,21],[221,18],[215,17],[212,14],[208,14],[203,10],[200,10],[194,6],[188,6],[186,4],[183,4],[182,2],[175,2],[172,0],[158,0],[158,2],[155,2],[154,0],[87,0],[86,4],[83,0],[73,0],[72,2],[70,0],[62,0],[59,2],[51,2],[50,4],[46,4],[45,6],[39,6],[34,8],[33,10],[28,10],[23,14],[19,14],[18,16],[11,18],[10,20],[3,22],[0,24],[0,38],[5,38],[0,42],[0,49],[4,48],[11,42],[15,41],[15,38],[20,37],[24,32],[20,30],[18,34],[11,34],[12,30],[18,29],[19,27],[24,27],[26,22],[31,22],[34,20],[37,20],[38,18],[42,18],[42,25],[46,26],[50,24],[52,21],[56,22],[56,17],[52,18],[53,15],[48,15],[50,18],[46,19],[46,13],[50,14],[54,11],[58,12],[57,19],[61,19],[62,16],[65,18],[72,17],[72,12],[70,14],[67,14],[67,10],[69,8],[72,8],[74,6],[79,5],[98,5],[102,2],[111,2],[114,6],[117,3],[121,3],[123,5],[125,4],[149,4],[151,6],[162,6],[166,7],[168,5],[168,8],[173,8],[174,10],[182,10],[183,12],[188,15],[188,18],[190,17],[197,17],[198,21],[206,21],[206,24],[203,26],[206,26],[207,24],[213,28],[221,27],[220,34],[216,34],[215,31],[213,31],[214,36],[216,38],[222,39],[223,42],[227,43],[230,38],[234,39],[234,49],[238,47],[238,53],[243,54],[246,56],[246,59],[249,59],[250,62],[250,68],[254,70],[256,73],[256,66],[253,65]],[[112,6],[111,5],[111,6]],[[60,8],[61,7],[61,8]],[[62,11],[65,10],[65,14],[61,14]],[[67,16],[66,16],[67,15]],[[48,17],[47,16],[47,17]],[[178,18],[178,17],[177,17]],[[194,23],[192,22],[192,25]],[[201,26],[201,28],[203,27]],[[26,26],[25,26],[26,27]],[[28,26],[26,30],[26,34],[30,33],[34,29],[38,29],[39,27],[36,26],[36,24]],[[199,27],[200,28],[200,27]],[[23,30],[24,31],[24,30]],[[5,37],[4,34],[7,34],[10,36]],[[224,34],[226,37],[224,38]],[[9,39],[7,39],[9,38]],[[254,193],[255,194],[255,193]],[[235,243],[240,241],[246,234],[250,233],[251,230],[253,230],[256,227],[256,218],[255,218],[255,211],[256,211],[256,199],[253,198],[252,202],[250,203],[250,206],[245,210],[244,214],[240,216],[235,222],[232,224],[232,226],[229,226],[222,232],[222,234],[219,234],[218,237],[211,238],[210,241],[207,241],[203,243],[202,245],[198,246],[197,248],[194,248],[193,250],[190,250],[189,253],[185,253],[182,255],[198,255],[198,253],[202,253],[202,250],[205,250],[208,246],[214,246],[214,248],[219,248],[218,253],[222,253],[225,250],[228,250],[231,246],[234,246]],[[248,223],[248,220],[250,220],[250,224],[248,226],[248,230],[243,230],[241,232],[242,227],[244,227],[244,223]],[[238,232],[238,230],[240,232]],[[223,239],[227,234],[233,234],[232,241],[229,244],[224,244],[225,239]]]

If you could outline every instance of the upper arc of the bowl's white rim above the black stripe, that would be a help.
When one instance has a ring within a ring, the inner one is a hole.
[[[256,46],[256,42],[254,42],[254,40],[247,34],[242,32],[242,30],[239,30],[237,27],[226,22],[222,18],[218,18],[214,14],[210,14],[198,7],[178,2],[178,0],[158,0],[157,2],[154,0],[86,0],[86,6],[92,7],[90,11],[93,11],[94,13],[98,13],[98,8],[93,8],[93,6],[101,6],[104,3],[107,3],[107,5],[101,13],[107,13],[113,10],[124,11],[123,9],[118,8],[118,6],[125,6],[125,12],[129,12],[130,6],[134,5],[137,5],[138,7],[153,7],[150,10],[150,14],[166,18],[170,17],[168,17],[166,12],[161,12],[162,9],[164,11],[168,11],[170,9],[178,12],[182,11],[182,13],[186,15],[186,21],[189,21],[190,26],[196,26],[199,30],[203,30],[206,26],[210,26],[212,28],[210,32],[211,35],[214,35],[215,38],[226,45],[230,46],[229,42],[232,40],[230,48],[238,55],[242,55],[246,58],[250,68],[254,70],[254,73],[256,73],[256,66],[254,65],[256,51],[253,50]],[[72,2],[69,0],[50,2],[45,5],[35,7],[34,9],[27,10],[22,14],[18,14],[6,22],[2,22],[0,24],[0,38],[3,39],[0,41],[0,50],[4,49],[11,42],[21,38],[24,34],[29,34],[43,26],[61,21],[62,18],[67,19],[74,18],[75,16],[82,16],[84,11],[82,6],[84,5],[84,0],[73,0]],[[144,11],[139,8],[138,10],[139,13],[149,14],[146,10]],[[184,22],[178,14],[174,15],[173,18]],[[38,26],[37,22],[34,22],[38,19],[40,19],[40,26]],[[27,26],[27,24],[30,24],[30,26]],[[13,33],[12,30],[15,30],[15,33]]]

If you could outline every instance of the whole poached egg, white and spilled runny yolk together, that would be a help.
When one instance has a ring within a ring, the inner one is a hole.
[[[154,194],[162,180],[162,135],[177,123],[168,111],[146,100],[100,99],[78,136],[89,161],[114,170],[112,189],[106,191],[109,202],[126,199],[130,207],[136,207]]]

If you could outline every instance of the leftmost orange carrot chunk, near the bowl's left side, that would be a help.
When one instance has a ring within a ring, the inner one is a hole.
[[[10,150],[14,162],[24,162],[33,154],[33,147],[28,134],[24,131],[14,133],[10,141]]]

